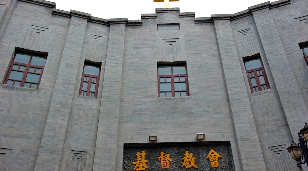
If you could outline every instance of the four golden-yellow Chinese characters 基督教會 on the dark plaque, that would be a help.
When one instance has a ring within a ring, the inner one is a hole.
[[[132,162],[133,165],[135,166],[136,171],[139,170],[145,170],[145,169],[149,169],[148,166],[146,165],[146,163],[148,163],[147,160],[145,160],[145,155],[146,153],[144,151],[142,151],[142,153],[137,152],[136,156],[137,156],[137,162]],[[197,160],[197,158],[193,157],[193,153],[188,153],[188,151],[185,151],[184,154],[184,158],[182,158],[183,160],[183,166],[186,169],[189,168],[199,168],[196,164],[195,161]],[[172,162],[172,159],[170,158],[170,154],[165,154],[164,152],[160,152],[160,156],[157,157],[158,160],[160,161],[161,164],[161,169],[169,169],[170,168],[170,162]],[[219,167],[219,163],[218,163],[218,158],[221,158],[221,155],[219,155],[216,151],[214,151],[213,149],[209,152],[209,155],[206,159],[209,159],[209,161],[211,162],[211,166],[212,168],[218,168]]]

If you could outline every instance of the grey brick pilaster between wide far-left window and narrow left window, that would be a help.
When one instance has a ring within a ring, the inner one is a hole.
[[[86,26],[72,15],[34,170],[59,170]]]

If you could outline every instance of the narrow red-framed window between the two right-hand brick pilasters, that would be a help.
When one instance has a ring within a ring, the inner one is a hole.
[[[244,64],[252,93],[270,89],[260,57],[246,59]]]

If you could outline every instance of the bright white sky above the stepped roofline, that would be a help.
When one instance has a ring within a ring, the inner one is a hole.
[[[56,2],[57,9],[71,9],[90,13],[103,19],[128,18],[140,20],[141,14],[155,13],[155,8],[164,8],[164,2],[153,0],[48,0]],[[268,0],[180,0],[170,2],[170,7],[179,7],[180,12],[195,12],[195,17],[211,17],[211,14],[234,14]],[[273,0],[271,2],[274,2]]]

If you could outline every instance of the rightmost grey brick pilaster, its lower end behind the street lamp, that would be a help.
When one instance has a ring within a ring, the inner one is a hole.
[[[252,9],[253,10],[253,9]],[[257,30],[294,140],[308,111],[269,8],[253,11]]]

